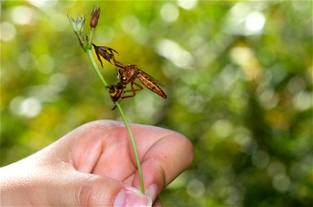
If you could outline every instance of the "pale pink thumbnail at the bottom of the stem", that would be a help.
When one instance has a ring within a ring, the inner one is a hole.
[[[122,189],[115,197],[113,206],[152,206],[152,200],[140,191]]]

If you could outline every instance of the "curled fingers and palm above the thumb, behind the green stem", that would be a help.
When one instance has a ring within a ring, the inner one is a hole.
[[[132,124],[142,163],[144,188],[153,200],[193,162],[189,139],[172,130]],[[128,132],[119,121],[93,121],[70,132],[57,148],[80,172],[111,177],[140,189],[135,155]],[[135,172],[135,174],[133,174]]]

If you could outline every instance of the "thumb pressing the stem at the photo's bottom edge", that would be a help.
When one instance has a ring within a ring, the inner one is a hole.
[[[51,186],[52,190],[48,193],[51,201],[49,203],[54,206],[152,205],[151,198],[140,193],[137,188],[109,177],[83,172],[72,172],[62,177],[56,185]]]

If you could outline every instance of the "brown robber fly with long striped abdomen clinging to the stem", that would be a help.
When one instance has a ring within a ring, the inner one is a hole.
[[[140,70],[137,66],[135,65],[125,65],[124,63],[121,63],[120,61],[114,60],[115,66],[117,68],[120,68],[118,70],[118,77],[120,78],[120,82],[117,83],[120,84],[121,86],[125,86],[127,84],[131,84],[131,89],[130,90],[124,90],[125,92],[132,92],[132,95],[128,95],[126,97],[122,97],[122,99],[129,98],[129,97],[134,97],[136,91],[142,90],[142,86],[140,86],[139,83],[135,82],[135,79],[139,79],[140,82],[146,86],[149,90],[155,92],[156,94],[160,95],[163,99],[167,99],[167,95],[165,92],[160,88],[160,86],[164,86],[162,83],[151,77],[151,75],[147,74],[146,72]],[[137,88],[133,88],[133,85],[137,86]]]

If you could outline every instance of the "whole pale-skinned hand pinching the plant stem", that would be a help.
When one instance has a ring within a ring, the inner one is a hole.
[[[191,142],[164,128],[132,124],[131,130],[145,195],[137,190],[140,179],[124,124],[103,120],[0,168],[1,206],[160,206],[160,192],[193,162]]]

